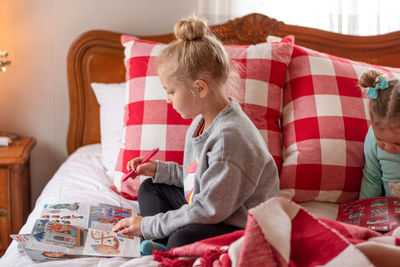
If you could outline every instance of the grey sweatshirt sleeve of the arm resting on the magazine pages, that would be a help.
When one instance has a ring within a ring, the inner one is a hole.
[[[234,163],[214,162],[201,176],[200,193],[194,195],[191,205],[143,218],[143,237],[159,239],[187,224],[219,223],[253,194],[257,182]]]

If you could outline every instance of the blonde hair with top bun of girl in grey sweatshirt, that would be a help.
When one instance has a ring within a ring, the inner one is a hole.
[[[186,85],[205,80],[223,94],[222,87],[230,72],[229,56],[207,23],[190,16],[175,24],[174,34],[176,40],[158,56],[158,69]]]

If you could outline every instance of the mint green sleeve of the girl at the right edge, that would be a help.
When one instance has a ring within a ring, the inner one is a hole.
[[[382,196],[382,170],[377,158],[377,145],[372,128],[364,143],[365,165],[361,181],[360,199]]]

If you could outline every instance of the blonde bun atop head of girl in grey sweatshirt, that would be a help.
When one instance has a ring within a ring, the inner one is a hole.
[[[195,16],[180,20],[175,24],[174,34],[178,40],[192,41],[207,34],[207,23]]]

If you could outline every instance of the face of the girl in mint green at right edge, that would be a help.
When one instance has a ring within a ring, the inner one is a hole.
[[[389,154],[400,154],[400,127],[374,127],[375,140],[378,147]]]

